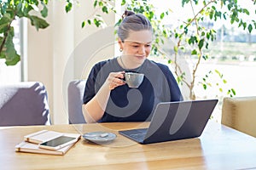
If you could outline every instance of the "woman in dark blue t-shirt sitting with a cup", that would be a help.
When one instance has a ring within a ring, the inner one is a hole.
[[[150,121],[158,103],[183,99],[169,68],[147,59],[152,34],[152,26],[143,14],[125,11],[118,30],[121,56],[94,65],[86,82],[86,122]],[[125,71],[143,73],[142,84],[129,88],[123,80]]]

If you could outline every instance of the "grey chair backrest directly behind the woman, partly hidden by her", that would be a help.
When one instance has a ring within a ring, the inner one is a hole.
[[[86,80],[73,80],[67,88],[68,119],[70,124],[85,123],[82,105]]]

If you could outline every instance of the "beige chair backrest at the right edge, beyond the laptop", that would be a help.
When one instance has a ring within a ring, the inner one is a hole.
[[[256,96],[224,98],[221,123],[256,137]]]

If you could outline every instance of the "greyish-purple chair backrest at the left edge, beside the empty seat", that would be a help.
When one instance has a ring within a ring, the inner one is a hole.
[[[0,126],[49,125],[48,96],[41,82],[0,86]]]

